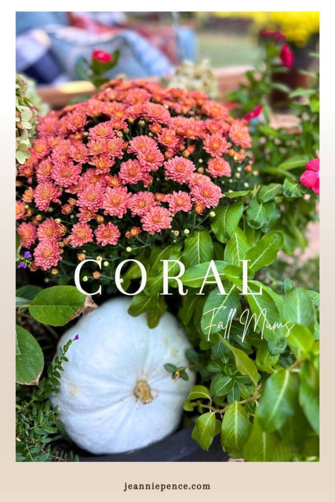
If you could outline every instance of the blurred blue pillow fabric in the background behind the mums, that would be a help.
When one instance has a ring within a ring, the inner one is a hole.
[[[114,52],[119,49],[118,65],[107,77],[124,74],[129,78],[167,76],[174,65],[155,46],[132,30],[115,34],[93,34],[68,26],[64,12],[17,12],[17,71],[25,72],[38,83],[73,80],[75,64],[94,49]],[[176,30],[177,51],[181,60],[196,59],[195,33],[185,27]]]

